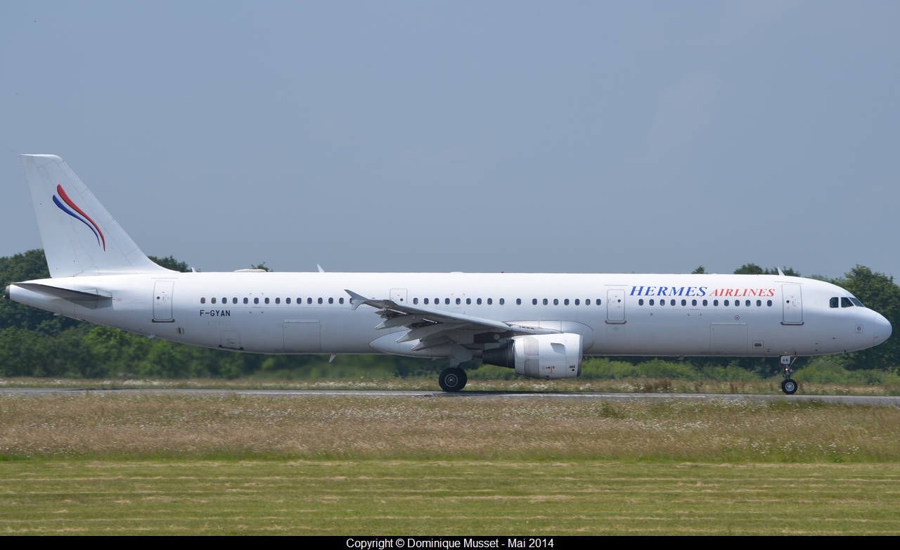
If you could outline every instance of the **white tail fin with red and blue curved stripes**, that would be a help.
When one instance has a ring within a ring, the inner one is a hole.
[[[171,273],[112,219],[75,172],[54,155],[22,155],[52,277]]]

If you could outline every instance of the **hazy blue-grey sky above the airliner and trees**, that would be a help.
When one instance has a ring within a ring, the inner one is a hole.
[[[900,275],[900,2],[0,2],[20,153],[203,271]]]

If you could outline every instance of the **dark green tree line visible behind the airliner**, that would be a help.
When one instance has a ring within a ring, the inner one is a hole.
[[[157,264],[188,271],[173,257],[152,257]],[[260,265],[264,266],[264,265]],[[785,275],[799,275],[793,269]],[[702,266],[695,273],[704,273]],[[743,274],[774,274],[745,264],[735,270]],[[49,277],[42,250],[29,250],[12,257],[0,257],[0,284]],[[822,276],[815,278],[829,280]],[[900,287],[891,276],[855,266],[839,279],[830,280],[853,293],[871,309],[900,326]],[[656,361],[653,357],[619,357],[639,365]],[[900,365],[900,338],[861,352],[836,356],[847,369],[893,371]],[[56,316],[11,300],[0,300],[0,376],[67,378],[240,378],[266,376],[280,378],[392,377],[434,374],[444,361],[401,356],[340,356],[329,363],[328,356],[264,356],[220,349],[186,346],[155,338],[101,327]],[[730,365],[757,374],[777,370],[772,359],[689,357],[685,363],[698,367]],[[653,364],[655,365],[655,364]]]

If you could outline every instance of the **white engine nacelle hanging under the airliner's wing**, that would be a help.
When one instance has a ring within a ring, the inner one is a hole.
[[[581,374],[581,351],[581,335],[571,332],[517,336],[509,346],[485,349],[482,362],[531,378],[574,378]]]

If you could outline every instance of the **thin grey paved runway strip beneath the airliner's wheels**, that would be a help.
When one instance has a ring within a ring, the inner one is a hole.
[[[606,393],[606,392],[456,392],[416,390],[231,390],[201,388],[0,388],[0,395],[49,395],[87,393],[157,393],[168,395],[247,395],[256,397],[372,397],[372,398],[435,398],[435,399],[547,399],[594,401],[804,401],[900,407],[897,395],[794,395],[745,393]]]

